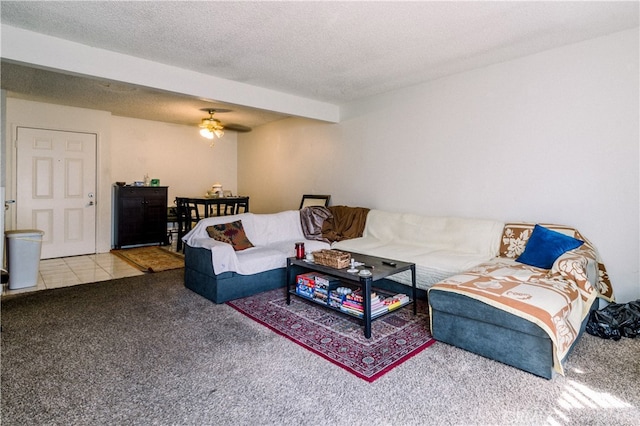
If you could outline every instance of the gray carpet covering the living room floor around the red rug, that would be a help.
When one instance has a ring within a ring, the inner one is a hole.
[[[547,381],[442,343],[374,383],[182,270],[2,300],[2,425],[632,425],[640,339],[585,335]]]

